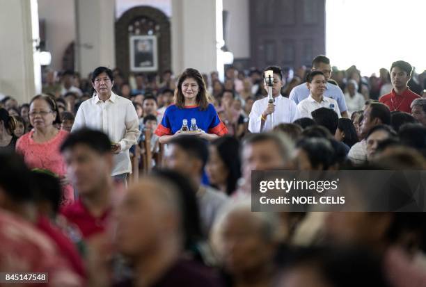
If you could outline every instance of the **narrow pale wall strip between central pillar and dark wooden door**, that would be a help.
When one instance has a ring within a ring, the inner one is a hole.
[[[223,0],[223,10],[229,12],[228,35],[225,39],[234,58],[250,57],[249,0]]]

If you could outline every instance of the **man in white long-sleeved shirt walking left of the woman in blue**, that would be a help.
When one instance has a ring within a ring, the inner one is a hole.
[[[71,132],[87,126],[107,133],[115,154],[111,176],[124,183],[127,174],[132,172],[129,148],[139,138],[139,120],[132,101],[112,92],[113,79],[113,72],[107,67],[93,71],[96,95],[81,104]]]

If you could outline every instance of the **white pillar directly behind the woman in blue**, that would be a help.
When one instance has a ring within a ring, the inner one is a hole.
[[[218,69],[216,1],[171,1],[172,69],[175,74],[189,67],[201,73]]]

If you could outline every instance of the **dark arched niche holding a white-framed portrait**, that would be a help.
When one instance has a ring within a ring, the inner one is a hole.
[[[130,46],[131,39],[134,47]],[[135,47],[136,50],[137,47],[145,49],[146,45],[143,43],[150,44],[149,49],[154,49],[152,50],[154,55],[150,55],[151,58],[148,56],[149,60],[146,58],[141,61],[135,60],[138,56],[132,57],[131,48],[132,51],[135,50]],[[118,19],[116,22],[116,66],[123,71],[125,76],[131,72],[156,74],[171,69],[170,20],[161,10],[150,6],[138,6],[127,10]]]

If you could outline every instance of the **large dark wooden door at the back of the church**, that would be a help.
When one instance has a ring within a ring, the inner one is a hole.
[[[250,0],[251,65],[310,67],[325,54],[325,0]]]

